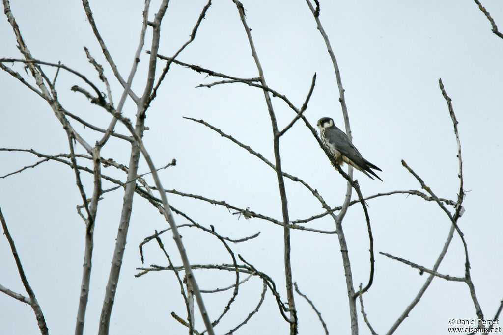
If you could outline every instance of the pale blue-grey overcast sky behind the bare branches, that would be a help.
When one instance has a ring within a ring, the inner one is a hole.
[[[143,3],[91,1],[100,33],[123,76],[129,72],[141,28]],[[153,1],[149,19],[159,5]],[[172,56],[188,39],[204,7],[203,1],[172,1],[161,30],[159,54]],[[316,86],[305,116],[315,124],[331,117],[344,129],[339,92],[324,42],[304,1],[244,1],[246,19],[270,87],[285,94],[298,107],[317,74]],[[484,0],[496,24],[503,28],[503,4]],[[104,65],[112,84],[114,102],[122,90],[106,65],[79,1],[26,2],[13,0],[11,9],[33,57],[63,64],[98,83],[82,47],[87,46]],[[346,90],[353,143],[370,162],[379,166],[384,180],[373,181],[356,171],[364,196],[393,190],[420,190],[415,178],[401,165],[404,159],[439,196],[457,199],[459,190],[457,147],[446,101],[439,89],[442,78],[452,98],[459,121],[462,146],[466,212],[458,221],[465,235],[471,274],[486,319],[491,319],[503,298],[501,284],[500,208],[503,180],[501,130],[503,125],[503,40],[473,1],[322,1],[320,20],[330,39]],[[149,50],[147,34],[144,50]],[[21,58],[7,20],[0,20],[0,57]],[[142,92],[148,56],[142,53],[133,89]],[[216,1],[202,22],[196,40],[179,60],[237,77],[251,78],[258,72],[235,5]],[[9,64],[10,66],[12,64]],[[159,63],[159,69],[163,67]],[[14,68],[23,72],[21,65]],[[45,68],[44,68],[45,69]],[[53,69],[47,73],[54,75]],[[29,78],[29,77],[27,77]],[[218,81],[205,74],[172,66],[147,112],[145,145],[155,164],[173,158],[177,166],[160,172],[167,189],[226,200],[240,208],[281,219],[276,174],[242,148],[203,125],[183,119],[203,119],[274,161],[272,132],[262,91],[245,84],[195,88]],[[81,94],[70,92],[83,85],[75,76],[60,73],[56,88],[66,109],[88,122],[106,128],[110,117]],[[100,86],[101,87],[101,86]],[[103,88],[104,90],[104,88]],[[2,122],[0,147],[33,148],[45,154],[68,152],[66,135],[48,104],[8,73],[0,73]],[[285,103],[274,98],[279,127],[294,117]],[[131,101],[124,107],[133,118]],[[75,123],[88,143],[101,138]],[[127,131],[118,126],[122,134]],[[83,148],[76,146],[79,153]],[[331,206],[342,204],[346,181],[333,169],[307,128],[297,123],[281,140],[285,172],[309,183]],[[113,139],[102,151],[127,164],[129,146]],[[0,152],[0,175],[34,164],[28,153]],[[104,169],[105,173],[121,176]],[[140,173],[147,172],[141,161]],[[92,178],[82,174],[86,190]],[[121,177],[124,180],[123,176]],[[104,188],[111,187],[105,184]],[[290,218],[307,218],[323,212],[319,202],[298,183],[287,181]],[[104,195],[98,209],[91,293],[86,314],[86,334],[98,329],[99,315],[110,270],[123,191]],[[355,195],[354,195],[355,196]],[[223,236],[239,239],[261,232],[259,238],[231,245],[247,261],[272,276],[286,301],[283,266],[283,229],[257,218],[245,220],[227,209],[168,194],[170,203],[198,223],[213,225]],[[75,206],[81,203],[72,170],[57,163],[0,179],[0,206],[9,225],[28,280],[42,307],[49,331],[67,334],[74,330],[78,304],[85,227]],[[431,268],[450,229],[446,214],[434,202],[412,195],[392,195],[368,201],[374,233],[376,273],[365,294],[365,309],[378,333],[385,333],[411,302],[427,276],[390,260],[387,252]],[[177,224],[186,221],[177,217]],[[111,320],[111,334],[186,333],[170,313],[184,315],[185,307],[176,278],[170,272],[134,278],[143,266],[138,244],[167,224],[144,199],[135,198]],[[334,230],[325,217],[311,224]],[[355,286],[368,280],[368,237],[361,206],[351,207],[343,223],[352,262]],[[229,263],[225,250],[214,239],[193,230],[181,231],[193,264]],[[164,236],[174,262],[177,251]],[[154,244],[145,247],[145,264],[167,262]],[[292,232],[293,277],[322,313],[330,333],[350,333],[350,318],[344,270],[337,236]],[[0,284],[25,294],[5,238],[0,239]],[[439,272],[464,275],[464,252],[455,236]],[[228,274],[195,272],[201,289],[226,287]],[[262,282],[250,279],[228,316],[216,328],[223,333],[241,322],[260,299]],[[205,295],[211,317],[223,309],[231,292]],[[310,306],[296,296],[301,334],[322,333]],[[360,309],[360,308],[358,308]],[[476,318],[468,287],[460,282],[434,279],[422,300],[396,333],[447,333],[450,318]],[[202,329],[202,323],[196,326]],[[362,334],[370,333],[359,314]],[[0,295],[0,333],[38,333],[31,307],[5,294]],[[236,333],[287,333],[288,324],[279,315],[270,292],[264,306],[248,325]]]

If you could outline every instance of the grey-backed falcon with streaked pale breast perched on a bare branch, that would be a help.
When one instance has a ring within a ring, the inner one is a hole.
[[[370,179],[375,180],[372,177],[374,176],[382,181],[372,169],[382,170],[362,157],[362,154],[351,143],[348,135],[337,128],[331,118],[321,118],[316,125],[319,129],[321,141],[338,165],[342,166],[346,162],[365,173]]]

